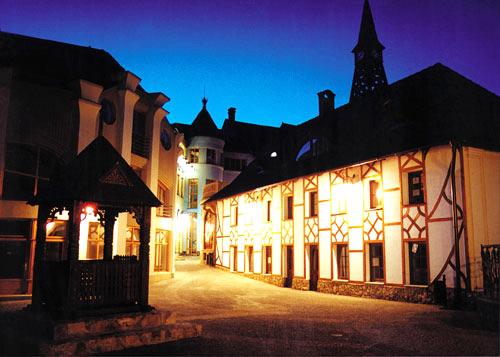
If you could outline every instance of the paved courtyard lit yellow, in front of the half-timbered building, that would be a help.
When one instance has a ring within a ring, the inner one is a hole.
[[[150,303],[203,325],[201,338],[117,355],[499,355],[498,332],[474,312],[279,288],[176,262]],[[22,307],[1,303],[0,310]],[[26,302],[24,303],[24,305]]]

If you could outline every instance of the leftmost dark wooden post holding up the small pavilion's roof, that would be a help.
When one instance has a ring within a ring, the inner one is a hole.
[[[40,281],[43,280],[43,264],[45,261],[45,242],[47,239],[47,231],[45,224],[49,217],[49,208],[45,204],[38,206],[38,218],[36,225],[36,245],[35,245],[35,262],[33,268],[33,292],[31,304],[33,311],[39,312],[42,308],[42,296]]]

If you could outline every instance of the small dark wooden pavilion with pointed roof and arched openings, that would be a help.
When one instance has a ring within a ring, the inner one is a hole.
[[[151,207],[161,202],[102,136],[55,173],[29,202],[38,205],[32,309],[55,318],[148,311]],[[82,215],[104,226],[102,260],[79,260]],[[47,261],[46,223],[69,212],[67,260]],[[113,257],[113,227],[121,212],[140,225],[139,257]]]

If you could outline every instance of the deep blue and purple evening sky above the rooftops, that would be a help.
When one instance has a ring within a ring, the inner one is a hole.
[[[500,0],[371,0],[389,83],[441,62],[500,95]],[[207,109],[279,126],[349,100],[363,0],[0,0],[0,29],[109,52],[171,98],[170,122]]]

